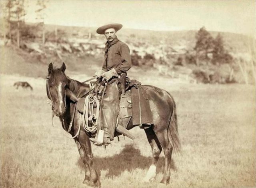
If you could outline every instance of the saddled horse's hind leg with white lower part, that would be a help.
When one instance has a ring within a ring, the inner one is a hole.
[[[144,129],[148,138],[148,142],[152,148],[152,164],[150,165],[148,172],[144,178],[144,182],[149,182],[156,177],[156,164],[159,159],[159,155],[162,151],[162,147],[152,127]]]

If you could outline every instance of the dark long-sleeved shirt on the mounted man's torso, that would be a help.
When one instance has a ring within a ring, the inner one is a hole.
[[[106,54],[105,54],[106,59]],[[114,68],[118,74],[126,73],[132,66],[130,49],[124,42],[118,41],[110,46],[108,58],[104,61],[102,70],[108,71]]]

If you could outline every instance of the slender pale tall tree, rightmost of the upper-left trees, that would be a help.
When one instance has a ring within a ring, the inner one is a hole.
[[[46,17],[46,3],[48,0],[37,0],[36,5],[38,9],[36,10],[37,16],[36,19],[39,20],[40,25],[42,26],[42,43],[45,43],[45,27],[44,27],[44,18]]]

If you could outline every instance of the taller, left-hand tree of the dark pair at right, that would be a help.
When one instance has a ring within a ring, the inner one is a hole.
[[[213,38],[205,27],[200,28],[196,33],[196,64],[199,64],[199,59],[208,60],[208,53],[212,52]]]

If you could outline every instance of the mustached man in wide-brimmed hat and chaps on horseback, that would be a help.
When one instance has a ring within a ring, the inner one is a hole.
[[[110,140],[114,138],[119,113],[119,99],[122,86],[118,81],[118,77],[126,76],[126,72],[132,66],[129,47],[124,42],[118,40],[116,36],[116,32],[121,28],[122,24],[108,24],[99,27],[96,31],[98,34],[104,34],[107,39],[102,70],[98,70],[95,73],[98,78],[102,77],[107,83],[102,98],[102,115],[100,121],[98,121],[101,123],[99,126],[104,131],[102,144],[105,146],[110,144]],[[96,142],[96,138],[90,140]],[[98,143],[99,146],[102,144]]]

